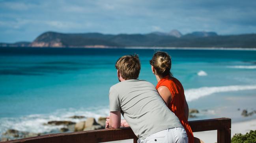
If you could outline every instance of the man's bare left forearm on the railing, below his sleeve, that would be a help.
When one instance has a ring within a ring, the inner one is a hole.
[[[108,127],[118,129],[121,123],[121,112],[114,111],[110,112],[110,118],[107,118]]]

